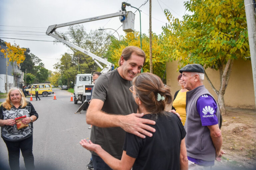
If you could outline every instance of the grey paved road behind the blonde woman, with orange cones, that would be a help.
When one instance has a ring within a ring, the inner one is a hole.
[[[85,170],[91,154],[79,144],[79,141],[90,137],[86,111],[74,114],[81,103],[75,105],[74,102],[70,102],[71,93],[65,90],[53,91],[57,100],[53,100],[51,94],[48,97],[39,96],[41,101],[36,101],[35,97],[31,101],[39,115],[38,120],[33,123],[35,166],[42,169]],[[24,170],[23,157],[20,157],[20,167]],[[9,168],[8,151],[2,139],[0,164]]]

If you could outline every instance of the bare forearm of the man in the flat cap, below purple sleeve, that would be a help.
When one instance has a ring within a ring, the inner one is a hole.
[[[212,143],[215,147],[215,152],[216,152],[216,158],[222,156],[222,151],[221,151],[221,145],[222,145],[222,135],[221,135],[221,130],[219,128],[219,125],[211,125],[207,126],[210,129],[210,135],[212,139]]]

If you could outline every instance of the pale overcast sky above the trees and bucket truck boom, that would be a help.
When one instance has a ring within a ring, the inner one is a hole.
[[[62,43],[43,42],[54,41],[54,38],[45,34],[48,26],[116,13],[121,9],[121,3],[124,1],[139,8],[147,0],[1,0],[0,38],[11,44],[16,43],[20,47],[29,48],[31,53],[42,59],[45,68],[54,71],[53,64],[69,50]],[[161,27],[167,23],[164,9],[171,11],[175,18],[181,19],[184,13],[187,13],[183,2],[183,0],[152,0],[152,32],[157,35],[161,34]],[[129,6],[126,10],[136,11],[135,8]],[[141,32],[148,35],[149,0],[140,7],[140,10]],[[122,24],[119,17],[115,17],[83,25],[89,32],[100,27],[117,30]],[[66,32],[67,28],[59,28],[56,31]],[[134,29],[140,30],[138,11],[135,13]],[[107,31],[114,33],[113,30]],[[122,27],[117,32],[120,36],[125,34]],[[113,36],[118,38],[117,33]]]

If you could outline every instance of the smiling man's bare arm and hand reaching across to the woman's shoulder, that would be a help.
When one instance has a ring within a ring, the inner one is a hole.
[[[121,127],[125,131],[135,134],[141,138],[152,136],[155,129],[146,125],[155,125],[155,121],[149,119],[141,119],[144,114],[129,114],[129,115],[111,115],[101,111],[104,102],[100,99],[92,99],[89,108],[86,112],[86,123],[89,125],[108,128],[108,127]]]

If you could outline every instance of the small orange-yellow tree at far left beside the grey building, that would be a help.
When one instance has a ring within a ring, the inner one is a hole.
[[[16,43],[14,43],[14,45],[11,45],[10,42],[5,42],[5,44],[7,48],[1,49],[1,52],[4,53],[5,58],[9,58],[9,62],[12,64],[12,74],[14,76],[16,84],[19,73],[15,70],[15,65],[19,66],[20,63],[25,60],[24,52],[26,51],[26,49],[20,48],[20,46]]]

